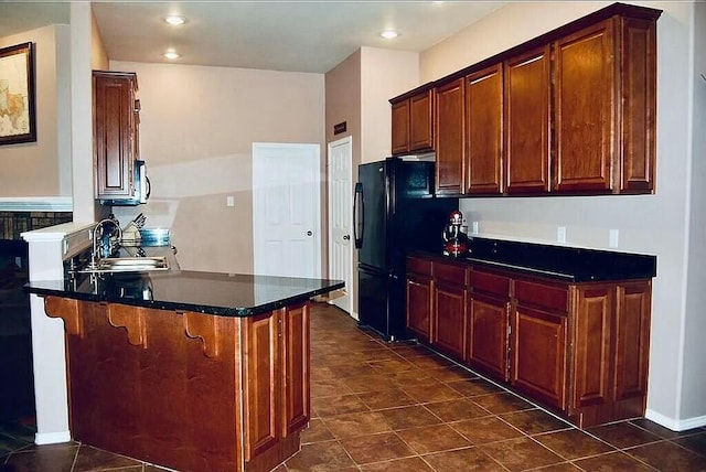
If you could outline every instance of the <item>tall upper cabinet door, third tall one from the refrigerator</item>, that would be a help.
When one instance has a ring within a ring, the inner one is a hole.
[[[549,191],[549,46],[505,64],[505,190]]]

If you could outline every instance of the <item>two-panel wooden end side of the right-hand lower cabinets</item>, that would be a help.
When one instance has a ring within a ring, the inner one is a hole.
[[[569,416],[590,426],[642,416],[650,351],[649,281],[576,287]]]

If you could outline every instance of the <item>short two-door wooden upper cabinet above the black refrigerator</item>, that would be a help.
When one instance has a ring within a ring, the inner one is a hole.
[[[393,155],[432,150],[434,89],[426,87],[391,104]]]

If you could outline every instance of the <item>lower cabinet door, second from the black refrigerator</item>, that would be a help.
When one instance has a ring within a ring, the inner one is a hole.
[[[437,281],[431,345],[462,361],[466,358],[466,288]]]

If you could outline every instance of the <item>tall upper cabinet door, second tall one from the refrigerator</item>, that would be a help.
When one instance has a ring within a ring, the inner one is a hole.
[[[466,85],[467,193],[502,193],[503,68],[472,74]]]

